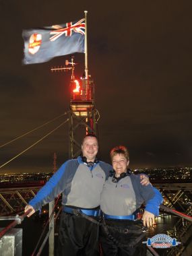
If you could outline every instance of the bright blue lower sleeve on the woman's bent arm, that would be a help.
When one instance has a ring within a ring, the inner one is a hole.
[[[163,202],[163,197],[160,191],[153,187],[154,190],[154,197],[150,200],[148,200],[148,203],[146,204],[146,211],[154,214],[154,216],[159,216],[159,207],[160,204]]]

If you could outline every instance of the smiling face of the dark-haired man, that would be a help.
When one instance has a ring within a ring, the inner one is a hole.
[[[98,141],[96,137],[86,137],[82,144],[83,156],[86,156],[88,162],[94,162],[98,152]]]

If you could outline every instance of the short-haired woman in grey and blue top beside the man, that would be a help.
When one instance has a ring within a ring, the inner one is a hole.
[[[103,255],[146,255],[146,245],[141,243],[143,226],[155,223],[162,195],[151,184],[141,185],[139,176],[128,169],[127,148],[113,148],[110,158],[113,173],[104,185],[100,205],[104,216],[100,232]],[[138,213],[144,202],[146,208],[141,220]]]

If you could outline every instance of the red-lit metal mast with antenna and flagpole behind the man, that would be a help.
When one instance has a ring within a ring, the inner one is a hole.
[[[74,57],[71,62],[65,61],[65,67],[52,68],[52,71],[71,69],[70,106],[69,106],[69,158],[79,156],[82,148],[82,137],[88,133],[96,134],[96,122],[99,119],[95,108],[94,82],[88,74],[87,13],[85,13],[85,73],[84,77],[75,79]],[[96,120],[97,119],[97,120]]]

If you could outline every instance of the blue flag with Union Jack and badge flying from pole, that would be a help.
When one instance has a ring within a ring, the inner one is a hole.
[[[24,64],[42,63],[57,56],[84,53],[85,19],[23,30]]]

